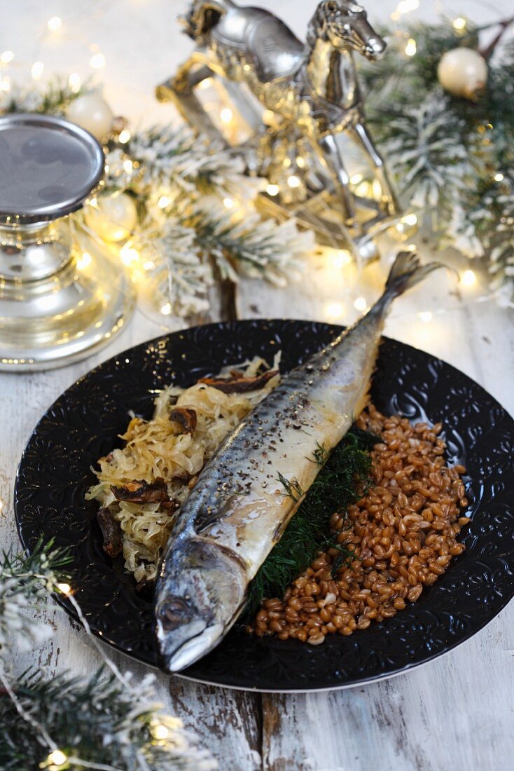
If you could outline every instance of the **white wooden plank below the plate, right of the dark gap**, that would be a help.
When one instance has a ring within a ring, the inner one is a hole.
[[[455,651],[363,688],[264,695],[267,771],[512,767],[514,607]]]

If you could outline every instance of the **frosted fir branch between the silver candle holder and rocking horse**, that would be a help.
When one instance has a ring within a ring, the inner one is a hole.
[[[245,275],[284,285],[301,270],[311,234],[301,234],[293,221],[261,219],[253,201],[262,180],[244,176],[244,163],[230,150],[186,129],[154,127],[134,135],[123,152],[115,146],[107,163],[108,189],[136,197],[136,243],[153,264],[157,300],[169,302],[173,313],[206,311],[217,278],[237,282]]]

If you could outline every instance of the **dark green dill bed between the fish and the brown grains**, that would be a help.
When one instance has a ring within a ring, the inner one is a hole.
[[[281,540],[250,583],[243,621],[253,618],[264,598],[282,598],[291,581],[307,569],[318,551],[338,548],[339,566],[354,560],[348,547],[332,543],[330,519],[334,512],[344,512],[368,490],[371,484],[369,451],[377,442],[372,434],[354,428],[330,456],[324,447],[318,446],[312,461],[322,466],[321,471]],[[289,480],[284,481],[288,487]],[[284,487],[287,491],[286,485]]]

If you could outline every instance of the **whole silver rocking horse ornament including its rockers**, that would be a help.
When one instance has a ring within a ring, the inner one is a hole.
[[[274,195],[267,194],[270,214],[294,215],[325,242],[344,243],[361,254],[368,249],[373,256],[373,234],[389,227],[399,210],[365,123],[355,70],[354,51],[375,61],[386,45],[365,9],[347,0],[324,0],[308,26],[306,43],[264,8],[240,7],[232,0],[193,0],[184,22],[197,49],[157,88],[158,98],[173,99],[195,130],[228,148],[194,93],[207,78],[220,79],[253,130],[249,140],[231,151],[244,156],[250,173],[272,183],[268,190],[273,188]],[[272,119],[264,123],[264,114]],[[355,193],[338,141],[341,134],[364,152],[379,185],[378,196]],[[304,200],[287,198],[284,179],[304,190]],[[358,214],[362,208],[368,210],[367,217]]]

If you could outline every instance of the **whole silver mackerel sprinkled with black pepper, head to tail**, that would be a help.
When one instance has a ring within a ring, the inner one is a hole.
[[[439,267],[398,254],[371,311],[286,375],[205,466],[156,582],[156,635],[170,672],[206,655],[236,621],[249,582],[319,473],[314,453],[330,453],[365,406],[391,301]]]

